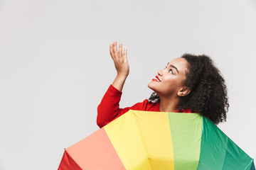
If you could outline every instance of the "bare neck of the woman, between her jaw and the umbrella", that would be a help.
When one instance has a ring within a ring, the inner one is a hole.
[[[179,98],[161,98],[159,110],[161,112],[175,112],[178,110]]]

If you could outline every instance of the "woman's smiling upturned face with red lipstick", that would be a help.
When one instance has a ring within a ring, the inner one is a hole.
[[[159,70],[155,79],[152,79],[148,86],[159,96],[180,96],[178,91],[183,88],[186,72],[188,72],[188,62],[186,59],[176,58],[171,60],[165,69]]]

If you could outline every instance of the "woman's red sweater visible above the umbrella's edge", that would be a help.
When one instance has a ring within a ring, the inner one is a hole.
[[[119,116],[127,113],[127,111],[137,110],[137,111],[157,111],[159,112],[160,103],[149,103],[147,99],[141,103],[136,103],[132,107],[119,108],[119,101],[121,99],[122,92],[115,89],[112,84],[110,84],[109,89],[107,89],[106,94],[103,96],[100,105],[97,107],[97,125],[102,128],[112,120],[118,118]],[[176,112],[191,113],[190,109],[177,110]]]

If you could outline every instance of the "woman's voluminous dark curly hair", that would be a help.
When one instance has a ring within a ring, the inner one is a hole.
[[[188,72],[183,86],[191,89],[186,96],[181,96],[178,109],[190,108],[209,118],[215,125],[226,121],[228,112],[228,93],[225,80],[213,61],[207,55],[184,54],[181,56],[188,62]],[[159,96],[153,92],[149,102],[160,102]]]

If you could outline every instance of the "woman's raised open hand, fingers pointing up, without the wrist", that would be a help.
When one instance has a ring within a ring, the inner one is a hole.
[[[124,47],[124,52],[122,52],[122,43],[119,43],[117,50],[117,42],[114,41],[110,44],[110,55],[114,61],[114,67],[117,69],[117,76],[126,78],[129,74],[127,47]]]

